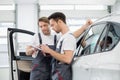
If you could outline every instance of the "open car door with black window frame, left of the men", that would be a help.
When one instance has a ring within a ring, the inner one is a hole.
[[[29,78],[32,57],[26,56],[25,47],[31,42],[34,32],[8,28],[7,34],[10,80],[24,80],[23,76]]]

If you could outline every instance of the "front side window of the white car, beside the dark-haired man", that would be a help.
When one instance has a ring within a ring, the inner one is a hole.
[[[93,25],[88,32],[86,32],[81,44],[77,48],[77,53],[79,53],[80,56],[94,53],[95,46],[105,26],[106,23],[96,24]]]

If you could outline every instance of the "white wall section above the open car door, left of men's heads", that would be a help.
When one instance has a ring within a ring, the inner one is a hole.
[[[38,29],[37,4],[17,4],[16,27],[36,32]]]

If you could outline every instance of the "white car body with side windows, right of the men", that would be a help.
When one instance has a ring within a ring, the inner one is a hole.
[[[97,20],[77,45],[73,80],[120,80],[119,14]]]

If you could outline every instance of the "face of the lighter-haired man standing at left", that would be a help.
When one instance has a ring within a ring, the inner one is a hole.
[[[39,27],[41,28],[41,31],[43,32],[44,35],[49,35],[50,34],[50,27],[49,24],[43,21],[39,22]]]

